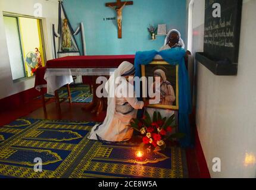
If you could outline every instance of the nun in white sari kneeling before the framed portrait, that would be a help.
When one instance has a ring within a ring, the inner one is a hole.
[[[88,136],[90,140],[121,142],[132,137],[133,129],[128,125],[133,118],[136,118],[137,110],[144,106],[143,102],[136,99],[133,86],[127,81],[127,78],[134,73],[134,66],[125,61],[107,81],[105,85],[108,93],[107,116],[101,125],[93,126]],[[133,96],[129,96],[131,93]]]

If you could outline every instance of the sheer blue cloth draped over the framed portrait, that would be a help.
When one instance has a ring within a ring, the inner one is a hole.
[[[191,89],[188,78],[188,71],[185,66],[185,49],[175,47],[157,52],[150,50],[145,52],[136,52],[135,55],[135,76],[141,77],[141,65],[151,63],[155,55],[161,55],[164,61],[171,65],[179,65],[179,132],[186,134],[180,139],[182,147],[191,147],[191,128],[189,124],[189,114],[191,113]],[[140,98],[142,100],[142,98]]]

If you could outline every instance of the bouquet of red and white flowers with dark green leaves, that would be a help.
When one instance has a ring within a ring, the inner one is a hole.
[[[142,119],[133,119],[130,126],[142,135],[143,143],[141,147],[143,149],[155,150],[155,148],[161,148],[161,150],[164,150],[167,141],[185,136],[182,133],[172,133],[173,128],[176,128],[175,115],[167,119],[162,118],[159,112],[154,112],[152,119],[149,113],[145,112]]]

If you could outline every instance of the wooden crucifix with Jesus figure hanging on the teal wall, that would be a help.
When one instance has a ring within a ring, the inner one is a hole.
[[[117,2],[106,3],[106,7],[110,7],[117,12],[118,38],[122,38],[122,11],[126,5],[133,5],[133,1],[117,0]]]

